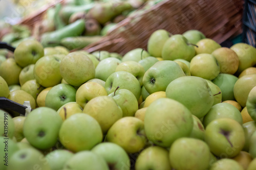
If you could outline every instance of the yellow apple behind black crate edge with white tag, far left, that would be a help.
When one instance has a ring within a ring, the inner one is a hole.
[[[29,101],[31,109],[35,109],[35,99],[31,94],[24,90],[14,90],[10,92],[8,99],[23,105],[25,101]]]

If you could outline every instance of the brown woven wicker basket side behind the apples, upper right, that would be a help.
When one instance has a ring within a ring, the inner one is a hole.
[[[163,1],[142,14],[122,20],[108,35],[83,50],[123,55],[134,48],[146,49],[148,38],[158,29],[172,34],[196,29],[221,43],[242,32],[242,15],[242,0]]]

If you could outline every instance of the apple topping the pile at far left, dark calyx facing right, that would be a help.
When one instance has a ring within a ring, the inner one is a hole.
[[[36,40],[24,40],[14,51],[15,62],[21,67],[35,64],[42,56],[44,56],[44,47]]]

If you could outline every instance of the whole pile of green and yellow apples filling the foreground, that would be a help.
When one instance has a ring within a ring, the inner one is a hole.
[[[0,110],[0,169],[256,169],[255,64],[197,30],[124,55],[24,40],[0,96],[31,109]]]

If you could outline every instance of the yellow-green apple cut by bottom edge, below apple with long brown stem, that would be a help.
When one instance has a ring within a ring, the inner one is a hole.
[[[212,164],[209,170],[244,170],[244,168],[237,161],[224,158]]]

